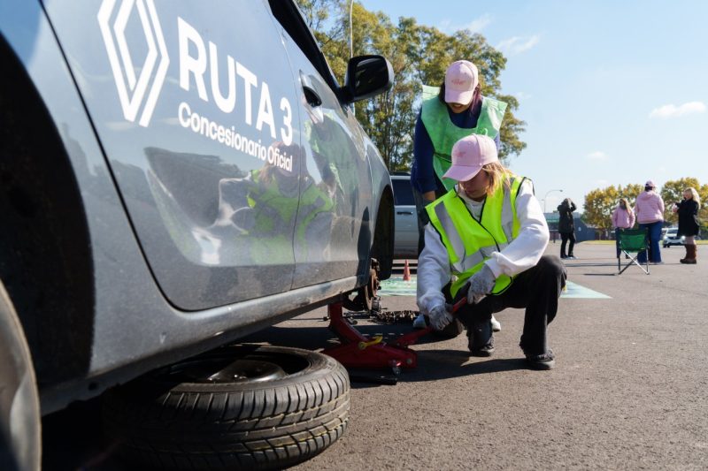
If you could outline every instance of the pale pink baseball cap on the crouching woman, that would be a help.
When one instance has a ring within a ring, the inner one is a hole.
[[[470,134],[452,146],[452,166],[443,177],[467,181],[473,179],[484,165],[493,162],[499,162],[494,140],[485,135]]]

